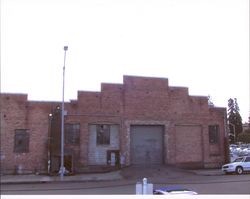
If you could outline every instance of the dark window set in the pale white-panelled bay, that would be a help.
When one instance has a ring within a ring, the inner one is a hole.
[[[96,143],[98,145],[110,144],[110,125],[97,125],[96,127]]]

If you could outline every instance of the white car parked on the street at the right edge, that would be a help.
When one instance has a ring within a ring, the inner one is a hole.
[[[242,174],[243,172],[250,171],[250,156],[243,156],[236,158],[234,162],[225,164],[222,166],[224,173],[237,173]]]

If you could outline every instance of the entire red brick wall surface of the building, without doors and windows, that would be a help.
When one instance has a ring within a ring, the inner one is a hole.
[[[29,171],[46,171],[48,114],[60,102],[28,101],[27,95],[1,94],[1,159],[2,170],[14,171],[22,165]],[[120,126],[120,149],[129,164],[129,125],[164,125],[164,158],[176,164],[176,125],[201,126],[202,164],[218,166],[225,160],[225,108],[208,107],[207,97],[189,96],[188,88],[169,87],[168,79],[124,76],[123,84],[101,86],[101,92],[78,92],[78,98],[65,103],[66,122],[80,123],[79,165],[88,165],[89,124],[112,123]],[[208,125],[220,126],[220,143],[208,142]],[[14,131],[29,129],[30,152],[16,154]],[[188,135],[187,135],[188,136]],[[196,139],[195,136],[192,139]],[[194,142],[196,142],[194,140]],[[185,151],[184,151],[185,152]],[[188,155],[188,154],[186,154]],[[183,154],[185,157],[185,154]],[[182,157],[182,158],[183,158]],[[187,162],[189,160],[187,159]],[[184,161],[185,162],[185,161]]]

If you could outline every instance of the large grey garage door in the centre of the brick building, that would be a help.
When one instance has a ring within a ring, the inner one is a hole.
[[[131,126],[131,164],[162,164],[163,132],[163,126]]]

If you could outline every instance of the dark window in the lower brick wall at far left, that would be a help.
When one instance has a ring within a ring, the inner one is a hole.
[[[29,152],[29,133],[27,129],[16,129],[14,139],[15,153]]]

